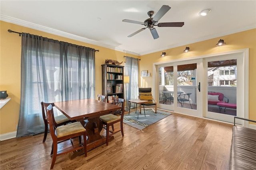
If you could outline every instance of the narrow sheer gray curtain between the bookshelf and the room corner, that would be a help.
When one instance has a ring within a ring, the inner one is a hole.
[[[139,59],[126,56],[125,63],[125,74],[130,76],[130,83],[126,83],[127,85],[127,101],[130,99],[137,99],[139,95],[139,78],[138,78],[138,70],[139,70]],[[129,106],[130,103],[127,102]]]

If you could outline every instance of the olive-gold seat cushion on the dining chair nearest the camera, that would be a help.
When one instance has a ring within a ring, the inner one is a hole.
[[[84,131],[86,130],[80,122],[70,123],[56,128],[58,138]]]

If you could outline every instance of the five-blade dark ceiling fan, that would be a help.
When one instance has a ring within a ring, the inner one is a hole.
[[[134,23],[134,24],[140,24],[140,25],[144,25],[146,26],[146,28],[148,28],[153,36],[154,39],[159,38],[158,33],[156,31],[156,28],[154,28],[154,26],[158,26],[158,27],[182,27],[184,26],[184,22],[162,22],[162,23],[158,23],[158,20],[160,20],[164,14],[166,14],[166,12],[168,12],[171,9],[170,6],[168,5],[163,5],[160,10],[156,13],[156,15],[154,16],[154,18],[152,18],[154,11],[149,11],[148,12],[148,16],[150,18],[146,19],[144,22],[139,22],[139,21],[134,21],[134,20],[122,20],[122,22],[130,22],[130,23]],[[142,28],[132,34],[130,34],[128,37],[132,37],[136,34],[138,34],[139,32],[142,32],[143,30],[145,30],[146,28]]]

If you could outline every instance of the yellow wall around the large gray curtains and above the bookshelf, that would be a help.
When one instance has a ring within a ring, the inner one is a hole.
[[[101,65],[105,59],[114,59],[124,65],[124,55],[139,58],[136,55],[115,51],[105,47],[92,45],[68,38],[48,34],[38,30],[33,30],[23,26],[18,26],[8,22],[0,21],[0,90],[7,90],[11,100],[0,109],[0,134],[16,131],[20,111],[20,55],[21,37],[18,34],[9,33],[7,30],[15,32],[26,32],[54,40],[83,45],[100,51],[95,53],[95,96],[102,93]]]

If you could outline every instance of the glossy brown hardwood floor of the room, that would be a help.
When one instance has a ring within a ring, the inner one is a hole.
[[[117,127],[117,126],[116,126]],[[118,128],[118,127],[117,127]],[[105,134],[105,131],[103,131]],[[0,142],[0,169],[50,169],[50,133]],[[140,131],[124,124],[114,140],[78,156],[57,156],[55,170],[227,170],[232,125],[187,115],[172,115]]]

